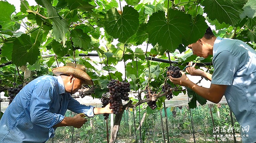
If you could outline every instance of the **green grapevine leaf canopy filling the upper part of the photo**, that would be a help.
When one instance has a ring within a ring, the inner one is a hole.
[[[21,69],[22,78],[25,70],[33,72],[30,78],[36,78],[52,75],[51,70],[58,64],[75,60],[88,68],[97,87],[93,97],[100,98],[106,92],[110,76],[119,80],[125,76],[135,91],[149,85],[160,92],[169,64],[147,61],[145,57],[168,59],[166,53],[170,52],[170,59],[178,61],[181,69],[188,61],[211,62],[211,57],[203,59],[191,51],[185,52],[185,47],[201,38],[209,24],[216,27],[216,36],[239,39],[256,48],[254,0],[126,0],[129,5],[121,6],[121,11],[117,10],[119,3],[115,0],[36,2],[37,6],[30,6],[21,0],[20,12],[14,13],[13,5],[0,1],[0,64],[13,62],[0,68],[2,87],[11,87],[13,81],[22,82],[16,66]],[[23,33],[18,30],[24,18],[28,27]],[[117,45],[112,44],[114,39],[118,39]],[[100,40],[106,41],[105,46],[100,46]],[[150,51],[130,48],[147,42],[154,46]],[[177,57],[177,49],[184,56]],[[79,57],[92,51],[98,53],[102,62]],[[45,53],[57,56],[47,57]],[[65,57],[66,54],[70,56]],[[124,61],[126,71],[122,75],[114,66]],[[95,69],[100,64],[103,68]],[[212,67],[204,67],[213,72]],[[114,72],[102,75],[103,71]],[[194,107],[197,95],[192,92],[190,96],[194,97],[191,100]],[[205,101],[200,99],[200,103]]]

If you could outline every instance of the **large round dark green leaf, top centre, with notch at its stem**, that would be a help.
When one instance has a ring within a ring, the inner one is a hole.
[[[105,31],[119,42],[125,43],[139,28],[139,13],[133,7],[125,6],[120,15],[116,8],[105,15]]]

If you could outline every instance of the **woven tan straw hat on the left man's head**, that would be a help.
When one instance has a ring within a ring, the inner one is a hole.
[[[52,69],[52,72],[57,76],[61,74],[74,75],[75,77],[84,79],[84,84],[93,85],[93,81],[91,80],[90,76],[86,73],[85,66],[83,65],[67,63],[66,66]]]

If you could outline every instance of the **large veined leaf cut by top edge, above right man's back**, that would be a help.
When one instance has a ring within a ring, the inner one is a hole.
[[[239,15],[246,2],[247,0],[205,0],[202,6],[211,20],[217,19],[219,23],[235,26],[241,20]]]

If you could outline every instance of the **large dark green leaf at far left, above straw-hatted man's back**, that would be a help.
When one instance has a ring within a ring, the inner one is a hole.
[[[31,38],[27,34],[22,34],[13,41],[12,62],[16,66],[23,66],[27,62],[33,65],[40,55],[40,43],[31,42]]]

